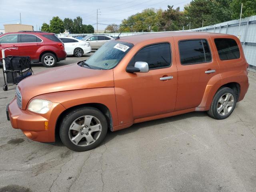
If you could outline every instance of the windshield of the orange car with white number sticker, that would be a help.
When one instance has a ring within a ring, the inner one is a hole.
[[[133,47],[133,44],[109,41],[99,48],[88,60],[83,64],[85,67],[92,69],[107,70],[114,68]]]

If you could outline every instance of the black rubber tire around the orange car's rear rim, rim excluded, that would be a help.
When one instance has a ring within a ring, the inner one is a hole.
[[[234,106],[233,106],[232,110],[231,110],[228,114],[222,116],[222,115],[218,114],[218,111],[217,111],[217,104],[218,104],[218,101],[219,101],[220,97],[223,96],[224,94],[227,94],[227,93],[230,93],[230,94],[233,95],[233,97],[234,97]],[[216,93],[216,95],[214,96],[213,101],[212,101],[212,106],[211,106],[211,108],[212,108],[212,113],[213,113],[214,117],[215,117],[216,119],[219,119],[219,120],[221,120],[221,119],[226,119],[226,118],[227,118],[228,116],[230,116],[230,115],[232,114],[232,112],[234,111],[234,109],[235,109],[235,107],[236,107],[236,101],[237,101],[237,98],[236,98],[236,93],[234,92],[234,90],[232,90],[231,88],[228,88],[228,87],[225,87],[225,88],[220,89],[220,90]]]

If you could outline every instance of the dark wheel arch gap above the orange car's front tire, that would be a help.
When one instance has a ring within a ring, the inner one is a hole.
[[[59,115],[57,122],[56,122],[56,126],[55,126],[55,140],[59,137],[60,124],[61,124],[62,118],[65,115],[67,115],[70,111],[72,111],[76,108],[81,108],[81,107],[94,107],[94,108],[100,110],[100,112],[102,112],[102,114],[106,117],[106,120],[108,122],[108,129],[110,131],[113,131],[112,115],[111,115],[109,108],[106,105],[101,104],[101,103],[86,103],[86,104],[80,104],[80,105],[76,105],[76,106],[67,108]]]

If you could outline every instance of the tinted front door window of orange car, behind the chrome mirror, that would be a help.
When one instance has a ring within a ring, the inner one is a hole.
[[[142,50],[134,56],[134,64],[137,61],[147,62],[150,69],[170,66],[170,44],[162,43],[142,48]]]

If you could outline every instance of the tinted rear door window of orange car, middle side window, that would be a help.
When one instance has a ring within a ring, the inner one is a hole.
[[[180,62],[182,65],[206,63],[212,60],[206,40],[185,40],[179,42]]]

